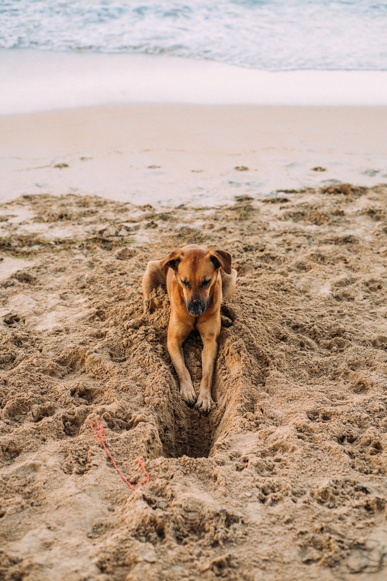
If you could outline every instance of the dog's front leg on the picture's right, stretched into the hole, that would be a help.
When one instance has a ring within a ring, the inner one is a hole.
[[[196,402],[196,408],[201,412],[208,414],[213,403],[211,397],[212,376],[214,375],[214,366],[216,355],[218,354],[218,336],[220,332],[220,313],[219,320],[205,321],[197,325],[203,342],[201,352],[202,375],[200,382],[199,394]]]

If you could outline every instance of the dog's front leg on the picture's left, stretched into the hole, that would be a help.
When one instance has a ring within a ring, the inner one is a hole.
[[[171,316],[168,325],[168,352],[173,367],[175,367],[176,373],[178,374],[180,395],[189,406],[192,406],[197,399],[194,386],[192,385],[191,376],[186,368],[183,353],[183,342],[191,330],[192,327],[182,322],[175,321]]]

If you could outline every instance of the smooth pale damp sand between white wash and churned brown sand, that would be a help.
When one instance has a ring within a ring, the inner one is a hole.
[[[387,181],[386,134],[387,107],[165,103],[0,116],[0,199],[214,205],[335,181],[372,186]]]

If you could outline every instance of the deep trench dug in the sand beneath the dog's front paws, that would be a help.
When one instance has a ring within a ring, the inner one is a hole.
[[[152,320],[149,324],[154,324],[157,328],[156,318],[159,318],[161,313],[162,307],[151,314]],[[253,346],[252,360],[255,369],[254,371],[251,369],[247,347],[234,331],[236,316],[235,309],[222,307],[222,330],[212,382],[214,403],[208,416],[200,414],[195,408],[188,407],[182,400],[178,378],[170,364],[171,376],[168,381],[170,394],[165,401],[164,412],[157,412],[162,456],[166,458],[211,457],[216,444],[227,437],[236,417],[240,418],[247,410],[254,410],[254,403],[251,400],[255,399],[261,389],[267,361],[265,357],[262,357],[260,350]],[[187,337],[183,344],[183,351],[187,369],[198,393],[202,374],[202,341],[197,332],[192,332]],[[255,385],[252,385],[252,381]],[[250,415],[254,416],[254,414]]]

